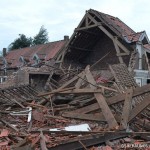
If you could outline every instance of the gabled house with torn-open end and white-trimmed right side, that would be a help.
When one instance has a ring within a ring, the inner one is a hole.
[[[119,18],[90,9],[75,28],[63,51],[65,66],[93,65],[107,70],[109,64],[125,63],[142,86],[150,81],[150,44],[145,31],[135,32]]]

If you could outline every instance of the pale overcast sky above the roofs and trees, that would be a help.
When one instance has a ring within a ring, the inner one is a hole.
[[[149,0],[0,0],[0,50],[18,37],[36,35],[42,25],[50,41],[71,35],[85,11],[92,8],[120,18],[150,37]]]

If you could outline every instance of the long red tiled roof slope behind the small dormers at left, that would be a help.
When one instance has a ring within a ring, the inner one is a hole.
[[[31,64],[34,63],[33,55],[37,54],[42,60],[50,60],[62,49],[65,45],[65,40],[50,42],[47,44],[26,47],[18,50],[9,51],[6,55],[7,62],[11,63],[10,67],[17,67],[21,65],[19,58],[22,56],[25,60],[28,60]]]

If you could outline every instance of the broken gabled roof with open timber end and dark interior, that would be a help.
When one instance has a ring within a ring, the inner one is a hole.
[[[102,68],[118,63],[118,60],[128,66],[136,43],[149,44],[145,31],[135,32],[119,18],[90,9],[66,46],[64,62],[72,65],[76,62],[85,67],[109,53],[109,59],[105,58],[101,64]]]

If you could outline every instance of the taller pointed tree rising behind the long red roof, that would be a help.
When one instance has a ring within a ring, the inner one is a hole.
[[[41,26],[39,33],[33,39],[33,45],[45,44],[48,42],[48,32]]]

